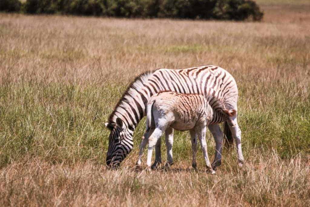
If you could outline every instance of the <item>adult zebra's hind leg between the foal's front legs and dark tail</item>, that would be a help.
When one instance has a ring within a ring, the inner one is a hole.
[[[215,141],[215,157],[212,163],[212,168],[216,169],[216,167],[222,164],[222,150],[223,150],[223,137],[224,134],[219,127],[219,124],[210,124],[208,125],[210,132],[212,133]]]

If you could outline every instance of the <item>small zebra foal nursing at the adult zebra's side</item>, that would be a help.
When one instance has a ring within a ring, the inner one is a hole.
[[[222,107],[219,112],[226,119],[233,116],[235,110],[226,110]],[[151,97],[146,109],[146,132],[142,137],[139,149],[137,166],[141,165],[143,150],[148,143],[147,166],[151,166],[153,146],[157,143],[162,133],[168,128],[176,130],[189,130],[192,140],[193,168],[196,168],[197,138],[199,139],[201,150],[206,161],[206,166],[212,174],[215,171],[209,161],[206,144],[206,127],[213,119],[213,109],[206,99],[199,94],[182,94],[176,92],[159,92]],[[172,131],[172,130],[168,130]],[[173,163],[172,143],[166,140],[167,164]],[[154,166],[156,167],[156,166]]]

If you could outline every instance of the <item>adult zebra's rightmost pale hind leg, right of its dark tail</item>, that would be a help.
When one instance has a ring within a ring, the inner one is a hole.
[[[232,137],[235,139],[236,147],[237,147],[237,156],[238,156],[238,164],[242,167],[244,158],[242,154],[241,148],[241,130],[237,123],[237,117],[233,117],[227,120],[230,131],[232,132]]]

